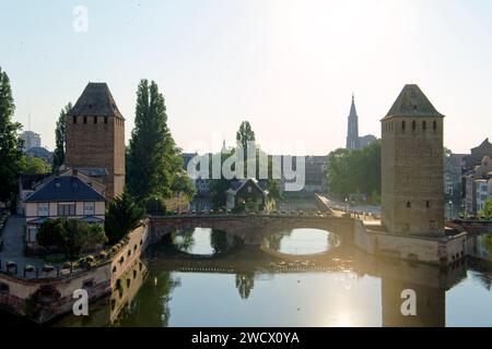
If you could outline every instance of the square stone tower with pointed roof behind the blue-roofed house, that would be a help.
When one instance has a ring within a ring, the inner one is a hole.
[[[106,198],[125,186],[125,118],[106,83],[89,83],[66,120],[66,166],[105,169]]]

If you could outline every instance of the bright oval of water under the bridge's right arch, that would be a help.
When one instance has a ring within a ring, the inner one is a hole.
[[[266,239],[268,249],[292,255],[324,253],[339,246],[339,244],[340,241],[335,233],[307,228],[281,231]]]

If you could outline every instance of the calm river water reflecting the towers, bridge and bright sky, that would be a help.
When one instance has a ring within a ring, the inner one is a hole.
[[[173,234],[147,273],[87,318],[55,326],[492,326],[492,268],[371,257],[327,231],[295,229],[260,248],[221,231]],[[403,290],[417,316],[403,316]]]

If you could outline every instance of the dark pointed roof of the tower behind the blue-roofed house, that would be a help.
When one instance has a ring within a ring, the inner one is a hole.
[[[68,115],[70,117],[117,117],[125,119],[119,112],[106,83],[89,83]]]

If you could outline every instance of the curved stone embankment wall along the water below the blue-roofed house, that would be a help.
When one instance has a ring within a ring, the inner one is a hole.
[[[44,323],[72,311],[73,292],[84,289],[90,301],[109,296],[120,284],[131,280],[134,268],[142,268],[140,255],[150,240],[149,222],[132,231],[118,251],[97,266],[52,278],[22,278],[0,274],[0,308]],[[139,265],[140,264],[140,265]],[[130,273],[130,274],[129,274]]]

